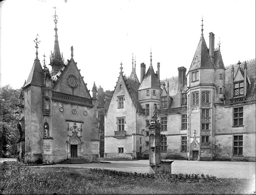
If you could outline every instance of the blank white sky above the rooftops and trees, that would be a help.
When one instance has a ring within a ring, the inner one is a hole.
[[[221,42],[224,65],[255,58],[255,0],[5,0],[0,2],[1,85],[20,88],[35,59],[34,40],[41,41],[38,58],[50,64],[54,48],[54,8],[58,15],[59,47],[65,61],[74,47],[74,60],[89,90],[101,85],[114,90],[123,63],[131,74],[132,53],[136,72],[152,62],[160,79],[178,76],[178,67],[188,70],[203,32]],[[50,66],[48,66],[50,67]],[[51,70],[51,67],[50,67]]]

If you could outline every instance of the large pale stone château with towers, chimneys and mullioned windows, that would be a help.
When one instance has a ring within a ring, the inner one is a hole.
[[[148,124],[157,103],[162,158],[255,161],[255,59],[225,67],[220,43],[214,48],[212,32],[209,38],[208,48],[202,28],[189,71],[179,67],[178,77],[160,80],[160,63],[155,73],[151,58],[133,87],[132,74],[125,77],[121,69],[105,118],[105,157],[148,158]],[[120,97],[126,99],[122,107]],[[121,129],[118,117],[125,119]]]

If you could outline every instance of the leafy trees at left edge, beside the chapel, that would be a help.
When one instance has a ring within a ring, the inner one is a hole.
[[[10,85],[0,89],[0,142],[1,157],[14,157],[16,151],[18,108],[20,90]]]

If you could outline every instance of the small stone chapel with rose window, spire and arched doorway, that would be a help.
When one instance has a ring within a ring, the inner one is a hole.
[[[67,158],[99,162],[96,86],[93,96],[73,58],[64,63],[59,50],[57,16],[51,54],[52,71],[42,68],[38,51],[19,97],[17,158],[56,163]],[[38,48],[38,40],[35,40]]]

